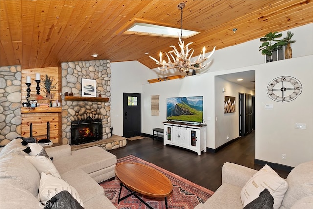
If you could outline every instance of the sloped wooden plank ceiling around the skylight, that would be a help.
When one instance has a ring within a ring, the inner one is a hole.
[[[1,0],[0,65],[27,69],[109,59],[155,68],[145,52],[157,58],[178,38],[123,32],[134,22],[180,28],[180,2],[186,5],[183,28],[201,32],[185,40],[193,42],[195,55],[203,46],[208,52],[313,23],[312,0]]]

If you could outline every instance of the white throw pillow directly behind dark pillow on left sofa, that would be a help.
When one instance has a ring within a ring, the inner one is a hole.
[[[83,201],[74,187],[61,178],[48,173],[41,173],[38,198],[43,204],[61,191],[68,191],[84,207]]]

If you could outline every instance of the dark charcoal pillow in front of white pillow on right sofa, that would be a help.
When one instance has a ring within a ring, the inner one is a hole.
[[[273,209],[274,198],[267,189],[264,189],[258,198],[247,204],[244,209]]]

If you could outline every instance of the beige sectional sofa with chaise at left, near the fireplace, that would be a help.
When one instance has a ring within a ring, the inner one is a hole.
[[[45,192],[45,178],[43,178],[45,175],[69,184],[71,192],[75,195],[78,193],[75,199],[79,203],[82,202],[81,205],[85,209],[116,208],[98,184],[115,176],[117,162],[115,155],[100,147],[76,151],[72,151],[69,145],[46,148],[49,157],[53,157],[49,169],[56,168],[60,178],[56,177],[58,175],[52,176],[40,172],[44,163],[36,164],[32,160],[47,161],[47,159],[44,156],[28,157],[28,154],[22,151],[25,147],[21,142],[22,139],[14,139],[0,152],[1,209],[42,209],[43,205],[38,198]]]

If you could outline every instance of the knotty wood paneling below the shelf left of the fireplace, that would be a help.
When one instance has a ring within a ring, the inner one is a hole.
[[[37,140],[47,139],[47,122],[50,123],[50,140],[59,143],[60,113],[22,113],[22,137],[30,137],[30,123],[33,127],[33,137]],[[39,136],[39,137],[36,137]]]

